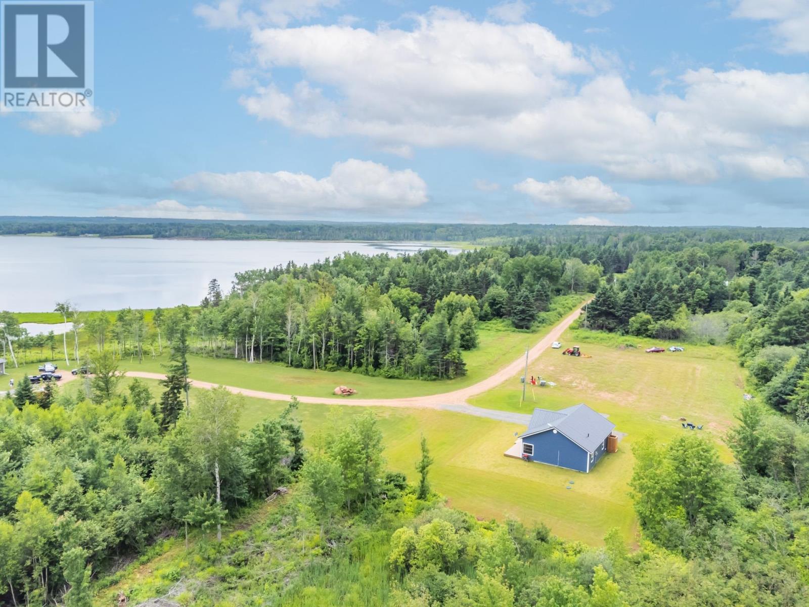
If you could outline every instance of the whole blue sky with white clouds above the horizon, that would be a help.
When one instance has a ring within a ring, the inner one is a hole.
[[[809,0],[95,2],[0,214],[807,226]]]

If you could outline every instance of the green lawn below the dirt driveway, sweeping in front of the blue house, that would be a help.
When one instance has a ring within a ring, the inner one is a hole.
[[[157,382],[148,384],[156,390]],[[192,410],[193,410],[192,390]],[[244,399],[242,427],[248,430],[286,403]],[[401,410],[373,407],[385,439],[388,467],[417,479],[415,462],[423,433],[434,465],[430,482],[452,507],[480,519],[515,518],[525,523],[543,522],[565,539],[599,545],[612,527],[621,528],[633,541],[634,515],[625,492],[612,487],[614,469],[624,469],[631,458],[619,452],[599,463],[599,473],[589,475],[528,464],[503,455],[524,428],[491,419],[437,410]],[[308,445],[320,442],[325,432],[350,423],[365,408],[301,404],[299,416]],[[567,490],[568,481],[574,481]]]

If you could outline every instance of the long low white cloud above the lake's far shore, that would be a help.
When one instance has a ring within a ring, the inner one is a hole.
[[[335,163],[327,177],[304,173],[201,172],[177,180],[184,192],[243,202],[256,214],[282,211],[372,210],[393,213],[427,202],[427,185],[416,172],[349,159]]]

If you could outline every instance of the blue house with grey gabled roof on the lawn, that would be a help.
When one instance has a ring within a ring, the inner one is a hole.
[[[608,451],[616,449],[615,424],[587,405],[560,411],[535,409],[528,429],[519,438],[528,461],[590,472]]]

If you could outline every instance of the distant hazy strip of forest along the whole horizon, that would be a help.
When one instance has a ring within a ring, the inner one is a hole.
[[[302,221],[201,221],[193,219],[130,219],[70,217],[0,217],[0,235],[152,236],[226,240],[388,240],[502,243],[531,238],[546,244],[574,242],[605,245],[611,241],[655,246],[665,240],[680,244],[744,240],[806,242],[805,228],[762,227],[603,227],[508,223],[315,223]],[[645,241],[645,242],[644,242]]]

